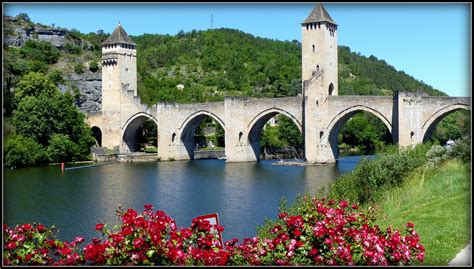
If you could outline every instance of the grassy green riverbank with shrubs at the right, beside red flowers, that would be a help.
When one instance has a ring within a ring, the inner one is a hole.
[[[418,227],[425,246],[425,265],[447,265],[470,240],[471,148],[470,137],[454,146],[418,145],[389,148],[372,160],[361,161],[314,196],[347,199],[372,211],[374,224],[385,229],[410,221]],[[307,206],[309,194],[287,206],[282,199],[280,212],[296,214]],[[306,198],[305,198],[306,197]],[[266,220],[257,228],[259,236],[280,220]]]

